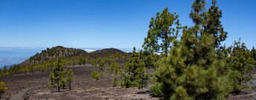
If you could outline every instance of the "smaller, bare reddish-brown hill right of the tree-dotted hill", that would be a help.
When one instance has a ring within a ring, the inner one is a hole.
[[[91,52],[91,54],[115,54],[115,53],[125,54],[125,52],[123,52],[122,50],[118,50],[115,48],[107,48],[107,49],[96,50]]]

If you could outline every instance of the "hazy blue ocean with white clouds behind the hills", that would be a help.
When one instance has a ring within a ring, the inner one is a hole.
[[[46,47],[0,47],[0,67],[7,65],[10,67],[13,64],[22,63],[26,59],[29,59],[30,56],[35,55],[36,53],[41,53],[42,50],[45,50]],[[103,48],[79,48],[82,50],[91,53],[95,50],[102,50]],[[131,52],[132,49],[126,48],[117,48],[124,52]]]

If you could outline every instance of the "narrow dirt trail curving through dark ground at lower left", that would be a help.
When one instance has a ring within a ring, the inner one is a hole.
[[[26,88],[22,89],[21,91],[19,91],[19,93],[10,97],[10,100],[23,100],[24,95],[27,93],[28,90],[31,90],[32,88],[33,87],[26,87]]]

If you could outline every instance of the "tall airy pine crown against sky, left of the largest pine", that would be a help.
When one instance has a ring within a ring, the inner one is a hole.
[[[148,36],[142,47],[145,50],[164,53],[167,56],[171,42],[177,38],[179,33],[179,28],[176,27],[180,27],[178,16],[165,8],[162,13],[157,13],[156,18],[151,19]]]

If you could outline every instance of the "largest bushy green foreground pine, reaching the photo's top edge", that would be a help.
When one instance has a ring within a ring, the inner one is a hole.
[[[214,16],[211,12],[211,9],[219,12],[216,1],[212,2],[206,12],[206,1],[194,1],[190,13],[194,26],[185,27],[183,36],[180,41],[174,41],[168,57],[163,57],[157,63],[155,83],[151,87],[154,95],[163,99],[225,99],[229,95],[232,87],[229,77],[225,75],[226,59],[217,59],[225,57],[216,54],[216,47],[225,40],[216,38],[223,27],[220,16]]]

